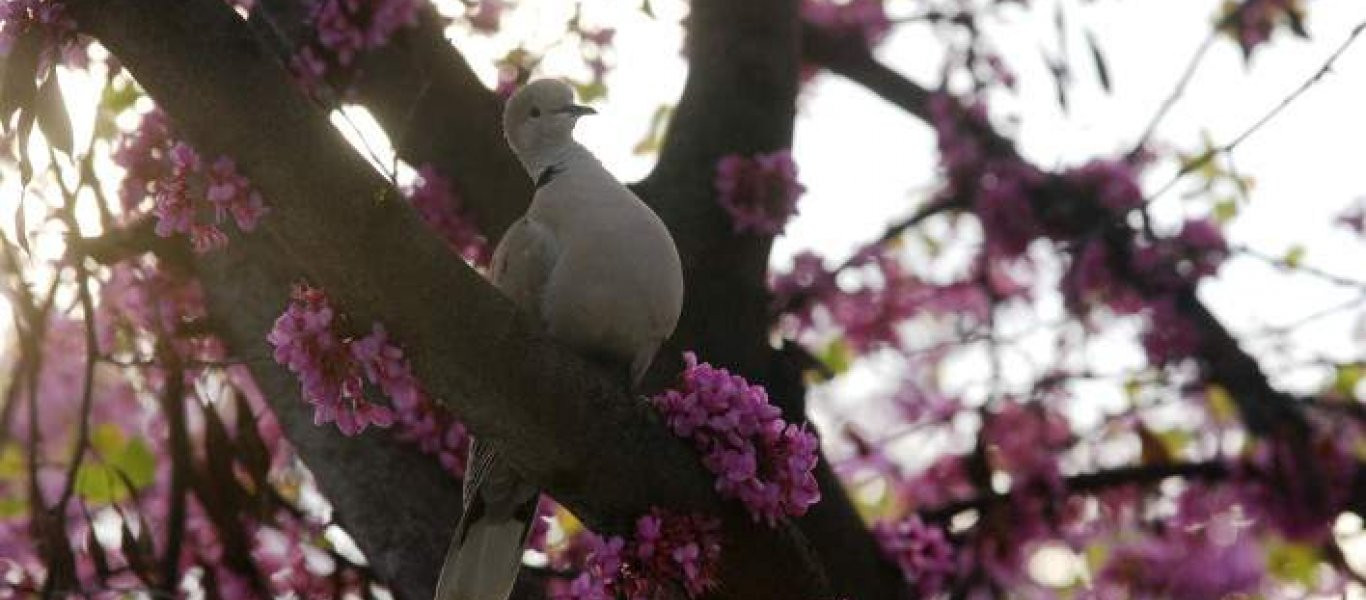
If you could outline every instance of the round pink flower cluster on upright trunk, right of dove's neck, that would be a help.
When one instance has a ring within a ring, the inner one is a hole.
[[[781,234],[803,191],[791,150],[728,154],[716,164],[717,202],[731,215],[736,234]]]

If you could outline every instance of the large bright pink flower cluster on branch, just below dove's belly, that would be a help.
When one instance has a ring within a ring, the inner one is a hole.
[[[688,437],[716,473],[716,489],[738,497],[755,521],[800,517],[821,499],[816,485],[818,440],[783,421],[759,385],[683,355],[682,384],[650,399],[675,435]]]

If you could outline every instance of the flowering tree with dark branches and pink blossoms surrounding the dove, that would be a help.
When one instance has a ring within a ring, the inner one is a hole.
[[[3,0],[20,200],[0,239],[0,596],[429,597],[471,432],[546,492],[518,597],[1277,597],[1359,579],[1333,526],[1366,517],[1361,362],[1279,390],[1197,295],[1246,251],[1209,190],[1247,182],[1220,165],[1280,108],[1195,154],[1145,134],[1035,164],[988,105],[1015,75],[979,27],[1033,7],[887,4],[691,3],[684,93],[634,186],[687,282],[641,402],[479,271],[533,194],[497,116],[540,56],[508,53],[490,90],[444,30],[494,33],[522,7]],[[1209,44],[1253,57],[1306,36],[1305,11],[1228,3]],[[593,97],[615,30],[581,16],[564,40]],[[941,85],[874,57],[906,22],[943,34]],[[914,167],[940,183],[852,257],[770,272],[803,193],[796,98],[822,71],[930,127],[938,164]],[[76,79],[101,90],[90,127],[68,115]],[[343,105],[376,118],[393,164],[343,139]],[[1171,185],[1141,183],[1172,164]],[[1203,216],[1153,210],[1197,178]],[[1341,226],[1361,234],[1362,215]],[[1063,323],[1034,324],[1055,354],[1007,381],[1005,325],[1057,299]],[[1079,359],[1124,327],[1143,369]],[[988,384],[945,385],[971,353]],[[809,390],[876,361],[897,365],[889,394],[807,422]],[[1097,377],[1130,402],[1082,426],[1072,384]],[[1037,577],[1041,560],[1070,575]]]

